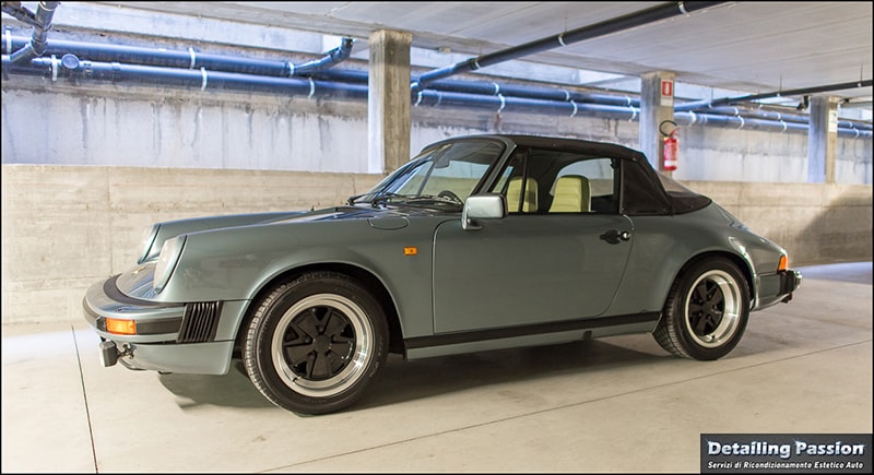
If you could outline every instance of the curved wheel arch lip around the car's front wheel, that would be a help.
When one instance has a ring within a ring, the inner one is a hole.
[[[389,326],[389,352],[390,353],[402,353],[403,352],[403,333],[401,331],[401,323],[400,318],[398,314],[397,306],[394,305],[394,300],[391,297],[388,288],[382,284],[382,281],[379,280],[374,273],[370,271],[359,268],[357,265],[346,264],[346,263],[339,263],[339,262],[328,262],[328,263],[314,263],[307,264],[299,268],[288,269],[267,281],[261,288],[255,294],[255,296],[249,300],[246,306],[246,310],[243,313],[243,318],[240,319],[239,324],[236,329],[236,336],[234,339],[234,354],[236,356],[239,355],[240,348],[243,347],[244,340],[246,339],[246,332],[240,331],[240,329],[245,329],[248,326],[249,322],[251,322],[252,318],[255,317],[255,312],[258,310],[258,306],[261,300],[267,297],[274,288],[282,285],[283,283],[294,281],[295,278],[299,277],[300,275],[307,274],[309,272],[336,272],[339,274],[346,275],[354,281],[358,282],[363,285],[366,289],[368,289],[374,297],[377,299],[379,305],[382,307],[382,310],[386,312],[386,318],[388,320]]]

